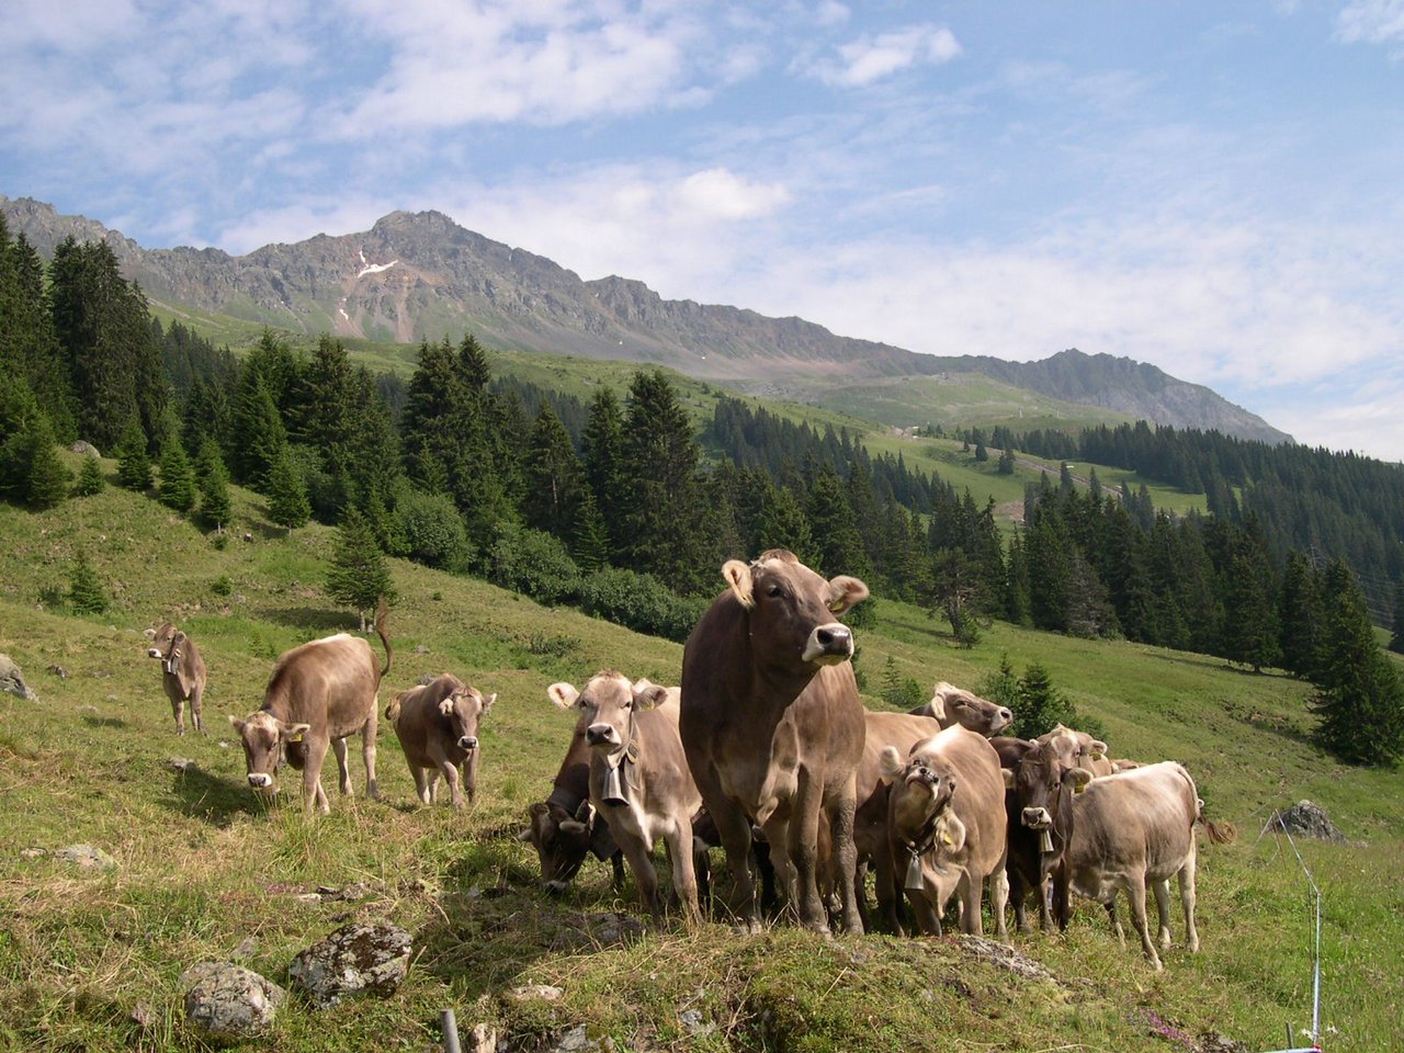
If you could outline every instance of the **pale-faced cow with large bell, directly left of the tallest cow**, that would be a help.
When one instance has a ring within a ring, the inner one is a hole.
[[[673,862],[673,892],[688,921],[696,921],[692,816],[702,795],[688,772],[678,737],[677,688],[663,688],[612,670],[597,673],[576,691],[552,684],[546,694],[562,709],[578,706],[590,744],[590,803],[605,817],[615,844],[654,918],[661,917],[653,845],[661,837]]]

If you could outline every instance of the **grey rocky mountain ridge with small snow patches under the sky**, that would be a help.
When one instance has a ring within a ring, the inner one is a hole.
[[[646,285],[581,281],[559,264],[466,230],[439,212],[392,212],[371,230],[218,249],[142,249],[83,216],[0,197],[14,233],[49,256],[65,237],[105,240],[157,303],[185,305],[300,333],[380,341],[456,338],[489,345],[667,365],[709,380],[810,390],[885,378],[977,372],[1064,402],[1243,438],[1289,437],[1200,385],[1129,358],[1064,351],[1040,362],[922,355],[840,337],[797,317],[665,300]]]

